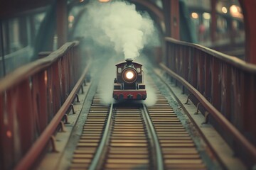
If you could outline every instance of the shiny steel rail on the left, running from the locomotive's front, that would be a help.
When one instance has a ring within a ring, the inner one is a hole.
[[[99,166],[98,162],[100,162],[100,157],[102,156],[103,149],[107,143],[108,136],[110,133],[110,125],[111,125],[110,122],[112,119],[112,114],[113,114],[113,103],[111,103],[111,106],[110,106],[110,114],[108,115],[108,118],[107,118],[107,124],[105,126],[105,130],[103,132],[102,139],[100,140],[100,145],[97,148],[95,157],[93,157],[93,159],[92,159],[92,162],[89,166],[89,170],[95,170],[95,169],[97,169],[97,166]]]

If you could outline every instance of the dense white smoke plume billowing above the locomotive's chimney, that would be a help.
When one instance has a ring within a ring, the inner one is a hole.
[[[112,47],[124,58],[136,58],[154,33],[149,15],[125,1],[92,2],[86,9],[83,33],[97,45]],[[81,31],[81,30],[80,30]]]

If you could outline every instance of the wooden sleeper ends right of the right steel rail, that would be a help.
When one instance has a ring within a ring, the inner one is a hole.
[[[196,146],[166,98],[157,94],[154,106],[147,106],[164,159],[164,169],[206,169]]]

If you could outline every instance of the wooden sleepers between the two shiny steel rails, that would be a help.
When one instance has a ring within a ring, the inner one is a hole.
[[[141,107],[114,107],[110,142],[102,169],[150,169],[149,135]]]

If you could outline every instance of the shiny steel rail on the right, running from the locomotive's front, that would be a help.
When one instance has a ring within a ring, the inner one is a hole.
[[[161,147],[159,144],[159,139],[156,135],[156,130],[154,129],[154,125],[151,122],[151,119],[149,118],[149,114],[146,111],[146,106],[143,104],[143,110],[144,110],[144,118],[146,119],[146,123],[149,125],[149,131],[151,133],[151,136],[153,138],[154,146],[156,148],[156,167],[158,170],[164,169],[164,159],[162,157]]]

